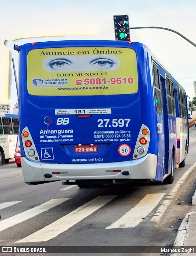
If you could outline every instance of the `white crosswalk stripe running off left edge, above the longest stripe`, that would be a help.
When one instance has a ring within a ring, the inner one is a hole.
[[[33,207],[25,212],[18,213],[12,217],[9,217],[5,220],[0,221],[0,231],[10,228],[16,224],[19,224],[25,220],[28,220],[36,215],[48,211],[49,209],[62,204],[63,202],[69,200],[71,198],[58,198],[58,199],[51,199],[41,205]]]

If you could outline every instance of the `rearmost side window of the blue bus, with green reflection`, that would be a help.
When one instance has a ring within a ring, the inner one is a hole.
[[[156,111],[162,112],[159,72],[158,72],[158,68],[154,64],[153,64],[153,79],[154,79],[154,89],[155,89]]]

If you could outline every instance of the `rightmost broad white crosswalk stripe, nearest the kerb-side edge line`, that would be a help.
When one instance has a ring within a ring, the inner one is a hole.
[[[146,194],[139,203],[130,209],[119,220],[112,223],[106,229],[110,228],[134,228],[145,218],[160,202],[165,193]]]

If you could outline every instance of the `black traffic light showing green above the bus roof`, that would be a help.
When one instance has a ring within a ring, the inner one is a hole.
[[[115,15],[113,17],[114,17],[115,39],[130,41],[129,16]]]

